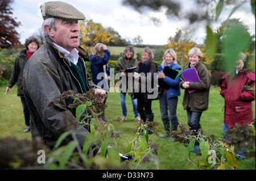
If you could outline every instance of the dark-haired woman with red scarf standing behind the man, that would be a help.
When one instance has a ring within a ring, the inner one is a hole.
[[[39,41],[35,37],[29,37],[26,40],[24,47],[26,47],[26,49],[22,50],[15,60],[13,71],[11,73],[11,78],[9,80],[9,85],[6,87],[6,94],[8,94],[8,92],[11,91],[11,88],[15,85],[15,83],[17,83],[17,95],[20,96],[25,124],[27,125],[23,132],[26,133],[30,131],[30,112],[27,108],[22,86],[23,69],[32,54],[39,49]]]

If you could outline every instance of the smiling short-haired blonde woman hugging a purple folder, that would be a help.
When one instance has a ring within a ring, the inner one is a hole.
[[[181,89],[185,89],[183,108],[187,110],[188,126],[196,135],[201,128],[200,119],[203,111],[208,110],[210,92],[210,74],[204,64],[200,62],[203,58],[201,50],[197,47],[188,52],[189,64],[184,70],[195,68],[199,75],[200,82],[180,82]],[[189,89],[195,91],[188,92]],[[196,141],[196,148],[192,152],[199,152],[199,142]]]

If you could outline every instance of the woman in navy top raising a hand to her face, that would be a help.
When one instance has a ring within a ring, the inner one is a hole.
[[[110,59],[110,52],[108,47],[105,44],[97,43],[93,48],[92,56],[90,57],[90,68],[92,70],[93,83],[98,87],[101,87],[106,91],[106,94],[109,90],[109,81],[110,81],[110,68],[108,65]],[[104,100],[106,103],[106,99]],[[97,110],[98,119],[100,123],[106,123],[109,120],[105,117],[105,110]]]

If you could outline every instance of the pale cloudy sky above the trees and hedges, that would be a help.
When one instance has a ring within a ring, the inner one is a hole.
[[[14,0],[11,5],[13,7],[13,18],[22,25],[16,28],[20,34],[20,42],[24,41],[36,33],[41,28],[43,18],[40,12],[40,5],[50,0]],[[234,0],[239,1],[239,0]],[[175,17],[167,17],[164,15],[164,9],[158,12],[151,10],[144,11],[142,14],[135,11],[130,6],[123,6],[122,0],[63,0],[79,11],[81,11],[87,20],[92,19],[94,23],[101,23],[105,28],[112,27],[121,35],[122,38],[131,40],[134,37],[141,36],[143,44],[148,45],[164,45],[168,43],[170,36],[175,36],[177,29],[183,31],[190,30],[188,20],[177,19]],[[183,14],[188,11],[200,11],[200,7],[193,4],[191,0],[183,0]],[[214,4],[215,5],[215,4]],[[213,11],[209,9],[210,14]],[[222,11],[218,22],[210,24],[212,30],[220,27],[220,24],[228,18],[234,5],[226,6]],[[152,18],[158,18],[159,23],[152,22]],[[241,6],[231,18],[240,18],[245,24],[249,26],[251,35],[255,35],[255,16],[251,12],[250,1]],[[197,44],[203,44],[206,37],[206,28],[204,23],[196,24],[193,31],[189,33],[189,38]]]

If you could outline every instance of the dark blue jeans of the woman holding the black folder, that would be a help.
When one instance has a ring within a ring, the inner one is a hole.
[[[163,123],[170,123],[171,120],[172,125],[175,127],[179,125],[176,113],[177,102],[177,97],[167,99],[167,92],[161,92],[161,94],[159,94],[160,112]],[[168,115],[168,110],[170,112],[170,116]]]

